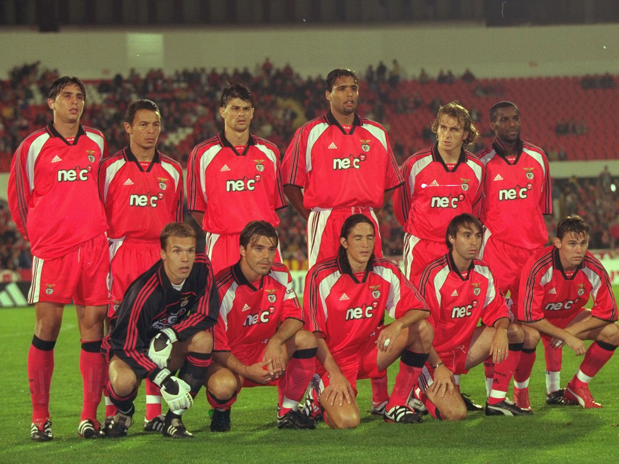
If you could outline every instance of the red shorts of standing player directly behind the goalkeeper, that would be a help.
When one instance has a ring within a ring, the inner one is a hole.
[[[110,239],[108,290],[111,298],[108,317],[116,312],[116,308],[123,301],[124,292],[132,281],[161,258],[160,248],[158,240]]]

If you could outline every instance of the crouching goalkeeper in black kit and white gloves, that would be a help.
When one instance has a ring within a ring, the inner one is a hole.
[[[196,255],[190,226],[168,224],[160,243],[161,259],[131,283],[103,340],[110,363],[108,390],[118,408],[103,427],[111,438],[126,436],[137,387],[146,377],[161,388],[170,407],[163,436],[193,437],[181,416],[206,380],[219,297],[208,257]]]

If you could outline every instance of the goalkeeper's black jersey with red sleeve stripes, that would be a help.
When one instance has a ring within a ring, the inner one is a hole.
[[[108,359],[123,359],[138,378],[154,377],[160,369],[149,359],[148,350],[160,330],[171,327],[183,342],[196,332],[211,330],[218,315],[219,296],[205,254],[196,254],[180,291],[173,288],[163,261],[158,260],[129,285],[102,351]]]

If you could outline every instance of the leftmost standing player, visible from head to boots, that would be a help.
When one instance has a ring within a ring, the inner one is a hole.
[[[33,254],[28,303],[35,304],[35,333],[28,352],[32,399],[30,437],[53,438],[50,384],[54,345],[64,305],[76,304],[82,342],[80,372],[84,403],[78,433],[100,436],[97,406],[101,401],[105,360],[100,353],[103,320],[109,301],[109,258],[105,210],[98,199],[97,167],[108,155],[103,134],[83,127],[80,116],[86,93],[77,77],[61,77],[50,88],[54,119],[19,145],[9,176],[9,208]]]

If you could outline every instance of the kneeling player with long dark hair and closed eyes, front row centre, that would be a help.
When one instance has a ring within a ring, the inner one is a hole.
[[[428,359],[433,330],[425,320],[429,314],[423,299],[399,267],[374,257],[375,233],[365,215],[348,217],[338,256],[314,265],[306,277],[303,307],[318,340],[320,377],[310,385],[306,412],[322,411],[335,429],[360,423],[357,379],[383,377],[397,358],[400,371],[384,420],[422,421],[407,400]],[[385,312],[396,320],[381,325]]]

